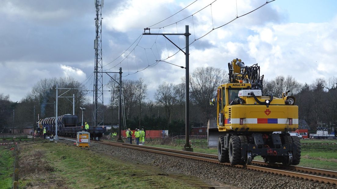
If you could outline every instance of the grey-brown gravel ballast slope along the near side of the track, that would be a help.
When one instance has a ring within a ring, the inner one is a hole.
[[[99,153],[110,154],[126,161],[138,161],[143,164],[159,166],[160,168],[173,173],[196,176],[203,180],[215,180],[240,188],[337,188],[336,186],[325,183],[305,181],[295,178],[272,175],[268,173],[250,171],[237,167],[230,167],[201,161],[193,161],[185,158],[165,156],[161,154],[102,145],[97,143],[90,143],[89,150],[93,150]]]

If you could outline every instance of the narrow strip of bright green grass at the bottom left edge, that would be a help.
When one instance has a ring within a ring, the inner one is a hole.
[[[10,189],[12,186],[14,157],[13,151],[9,150],[12,146],[0,146],[0,189]]]

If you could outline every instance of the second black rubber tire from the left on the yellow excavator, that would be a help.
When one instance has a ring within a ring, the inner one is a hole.
[[[229,163],[237,165],[241,161],[241,143],[238,136],[232,136],[229,139]]]

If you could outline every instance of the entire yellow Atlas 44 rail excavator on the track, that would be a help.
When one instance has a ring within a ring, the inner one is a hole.
[[[257,64],[245,66],[240,59],[228,63],[229,82],[221,84],[210,105],[217,106],[215,120],[208,126],[208,145],[218,148],[220,162],[251,164],[255,156],[265,162],[297,165],[301,159],[300,139],[289,131],[298,128],[295,98],[263,96],[263,77]],[[216,101],[217,100],[217,101]]]

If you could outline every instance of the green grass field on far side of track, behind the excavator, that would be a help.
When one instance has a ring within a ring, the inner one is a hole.
[[[166,143],[166,144],[163,144]],[[207,148],[207,140],[191,140],[192,148],[194,152],[207,153],[207,154],[218,154],[216,148]],[[337,171],[337,140],[327,139],[327,140],[316,140],[316,139],[304,139],[301,140],[302,152],[301,152],[301,162],[299,166],[313,167],[320,169],[328,169],[332,171]],[[330,144],[329,144],[330,143]],[[160,148],[170,148],[182,150],[185,144],[185,140],[177,139],[169,142],[153,140],[147,141],[146,145],[155,146]],[[263,161],[261,156],[256,156],[254,160]]]

